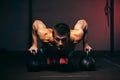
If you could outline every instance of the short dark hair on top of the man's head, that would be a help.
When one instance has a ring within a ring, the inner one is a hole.
[[[65,23],[58,23],[53,27],[53,30],[56,31],[59,35],[68,35],[70,36],[70,27]]]

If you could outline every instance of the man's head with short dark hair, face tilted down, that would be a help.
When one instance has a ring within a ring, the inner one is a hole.
[[[53,27],[53,38],[58,50],[64,48],[70,38],[70,28],[65,23],[56,24]]]

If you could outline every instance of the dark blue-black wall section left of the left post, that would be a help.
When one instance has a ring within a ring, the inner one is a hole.
[[[28,0],[0,1],[0,49],[21,51],[28,47]]]

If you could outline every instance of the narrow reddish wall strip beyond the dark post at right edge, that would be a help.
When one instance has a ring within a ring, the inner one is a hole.
[[[120,0],[114,0],[115,51],[120,51]]]

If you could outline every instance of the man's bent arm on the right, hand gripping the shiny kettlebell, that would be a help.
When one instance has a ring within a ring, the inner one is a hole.
[[[78,29],[83,31],[83,49],[85,52],[91,51],[91,46],[88,44],[88,24],[86,20],[78,20],[77,24],[75,25],[74,29]]]

